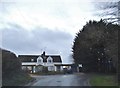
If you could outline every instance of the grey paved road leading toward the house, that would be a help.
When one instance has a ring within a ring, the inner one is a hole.
[[[88,77],[84,73],[32,77],[36,81],[30,86],[89,86]]]

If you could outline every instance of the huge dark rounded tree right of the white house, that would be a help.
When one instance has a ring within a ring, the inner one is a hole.
[[[117,68],[116,33],[119,28],[120,26],[105,23],[103,20],[89,21],[74,39],[72,49],[75,63],[83,64],[85,71],[101,69],[101,72],[105,72],[108,70],[109,61]]]

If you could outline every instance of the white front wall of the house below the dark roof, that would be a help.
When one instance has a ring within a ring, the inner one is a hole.
[[[51,58],[49,58],[51,59]],[[55,64],[60,65],[61,62],[40,62],[41,58],[38,58],[37,62],[22,62],[22,69],[23,70],[28,70],[28,71],[32,71],[33,73],[42,71],[42,67],[48,67],[48,71],[62,71],[63,68],[62,66],[55,66]],[[43,61],[43,60],[41,60]],[[30,66],[31,65],[31,66]],[[34,66],[33,66],[34,65]],[[32,67],[33,66],[33,67]]]

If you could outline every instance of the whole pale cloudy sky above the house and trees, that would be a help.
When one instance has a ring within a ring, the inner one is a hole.
[[[72,63],[76,33],[94,15],[94,0],[1,0],[0,47],[16,55],[61,55]],[[105,0],[104,0],[105,1]]]

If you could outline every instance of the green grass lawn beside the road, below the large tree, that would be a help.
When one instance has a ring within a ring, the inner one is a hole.
[[[117,86],[115,75],[92,74],[90,77],[92,86]]]

